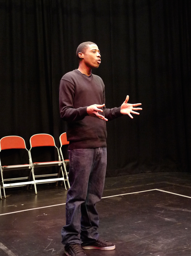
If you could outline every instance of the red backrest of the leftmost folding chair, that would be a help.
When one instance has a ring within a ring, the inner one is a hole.
[[[25,140],[19,136],[6,136],[0,139],[0,151],[4,149],[24,148]]]

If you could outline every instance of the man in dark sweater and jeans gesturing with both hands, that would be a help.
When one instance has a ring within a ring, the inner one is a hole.
[[[91,74],[101,55],[93,42],[80,44],[76,51],[79,67],[60,81],[60,116],[67,121],[66,132],[70,189],[66,201],[66,225],[62,243],[68,256],[85,256],[83,249],[114,250],[115,245],[99,237],[95,204],[101,200],[106,172],[106,121],[124,114],[131,118],[141,105],[129,104],[129,96],[119,108],[105,107],[102,79]]]

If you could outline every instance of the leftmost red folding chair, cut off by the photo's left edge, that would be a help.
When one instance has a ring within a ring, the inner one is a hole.
[[[26,152],[28,153],[29,164],[19,164],[19,165],[17,164],[17,165],[2,166],[1,160],[0,160],[1,183],[2,183],[1,188],[3,188],[4,197],[6,198],[5,188],[20,187],[20,186],[26,186],[26,185],[29,185],[29,184],[34,184],[35,194],[37,194],[35,178],[34,178],[34,173],[33,173],[33,169],[32,169],[32,162],[30,161],[30,155],[29,155],[29,151],[26,148],[25,140],[22,137],[19,137],[19,136],[3,137],[0,140],[0,152],[2,150],[6,150],[6,149],[25,149]],[[8,178],[8,179],[4,178],[4,171],[8,171],[8,170],[13,171],[13,170],[18,170],[18,169],[30,169],[30,174],[32,173],[32,181],[29,181],[30,175],[26,176],[26,177],[18,177],[18,178]],[[20,182],[12,183],[12,181],[16,181],[16,180],[28,180],[28,181],[20,181]],[[11,183],[7,183],[7,181],[11,181]],[[1,192],[1,189],[0,189],[0,192]],[[2,196],[1,196],[1,198],[2,198]]]

